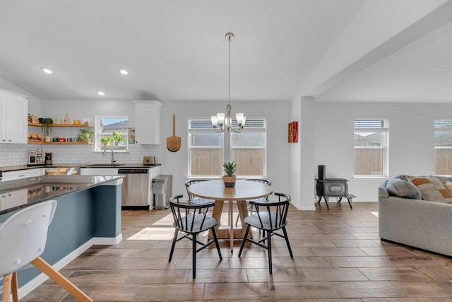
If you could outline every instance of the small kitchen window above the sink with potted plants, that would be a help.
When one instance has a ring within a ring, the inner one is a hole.
[[[126,115],[96,115],[95,149],[115,152],[129,151],[129,117]]]

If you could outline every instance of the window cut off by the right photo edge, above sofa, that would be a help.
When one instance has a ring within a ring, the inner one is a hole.
[[[435,175],[452,175],[452,119],[435,120]]]

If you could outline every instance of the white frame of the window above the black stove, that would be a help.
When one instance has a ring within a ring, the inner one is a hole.
[[[359,127],[356,127],[358,123]],[[378,123],[381,124],[380,127]],[[361,125],[362,127],[361,127]],[[367,127],[364,127],[367,126]],[[381,133],[381,146],[356,146],[355,134],[359,132]],[[357,150],[381,150],[381,175],[359,175],[356,170]],[[387,178],[389,175],[389,118],[388,117],[355,117],[353,121],[353,178]]]

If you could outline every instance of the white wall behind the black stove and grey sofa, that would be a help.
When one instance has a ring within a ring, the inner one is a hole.
[[[434,119],[452,117],[452,104],[316,103],[315,168],[326,165],[326,176],[347,178],[357,201],[376,201],[384,178],[353,178],[353,120],[389,118],[389,176],[434,173]]]

